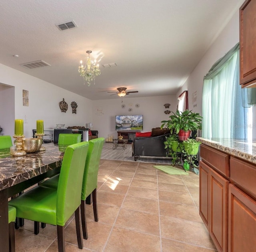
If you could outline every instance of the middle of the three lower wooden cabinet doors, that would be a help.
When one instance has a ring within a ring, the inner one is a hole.
[[[228,245],[228,184],[229,181],[210,169],[210,236],[218,251]]]

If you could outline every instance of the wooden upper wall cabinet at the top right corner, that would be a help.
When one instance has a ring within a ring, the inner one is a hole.
[[[240,7],[240,85],[256,87],[256,1]]]

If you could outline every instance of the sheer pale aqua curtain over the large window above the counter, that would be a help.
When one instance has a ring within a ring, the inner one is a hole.
[[[239,85],[239,43],[204,77],[202,137],[247,138],[248,109]]]

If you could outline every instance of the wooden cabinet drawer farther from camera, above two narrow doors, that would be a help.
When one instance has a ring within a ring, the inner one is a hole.
[[[202,160],[214,168],[216,171],[229,177],[229,155],[213,148],[209,148],[204,144],[200,146],[200,157]]]

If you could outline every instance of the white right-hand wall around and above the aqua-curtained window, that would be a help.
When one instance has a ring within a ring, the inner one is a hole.
[[[190,74],[182,88],[177,92],[178,97],[184,90],[188,90],[188,109],[202,114],[202,90],[204,75],[212,65],[225,55],[239,42],[239,12],[237,11],[214,43],[210,46],[204,57],[200,60],[194,71]],[[196,92],[197,101],[192,103],[192,94]],[[194,106],[196,105],[196,106]]]

